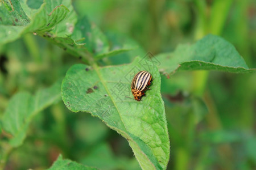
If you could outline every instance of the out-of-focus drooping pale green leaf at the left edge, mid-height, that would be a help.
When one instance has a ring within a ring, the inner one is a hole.
[[[28,92],[14,95],[2,118],[2,128],[13,135],[10,144],[13,147],[22,145],[28,126],[38,112],[60,100],[60,81],[52,87],[38,91],[34,96]]]

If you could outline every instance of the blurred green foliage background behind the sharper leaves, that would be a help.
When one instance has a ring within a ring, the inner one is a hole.
[[[27,1],[33,8],[42,3]],[[102,65],[129,63],[148,51],[172,52],[178,44],[213,33],[231,42],[250,68],[256,67],[253,0],[74,0],[73,6],[112,40],[129,39],[141,46],[102,59]],[[125,36],[114,37],[113,32]],[[82,61],[31,34],[0,46],[0,116],[16,92],[35,94],[52,86],[75,63]],[[256,167],[255,73],[192,71],[170,79],[163,75],[161,90],[171,142],[167,169]],[[5,142],[10,134],[1,134],[1,152],[10,155],[0,158],[7,160],[5,169],[47,169],[60,153],[100,169],[140,169],[127,141],[98,118],[71,113],[62,101],[41,112],[19,148],[9,150]]]

